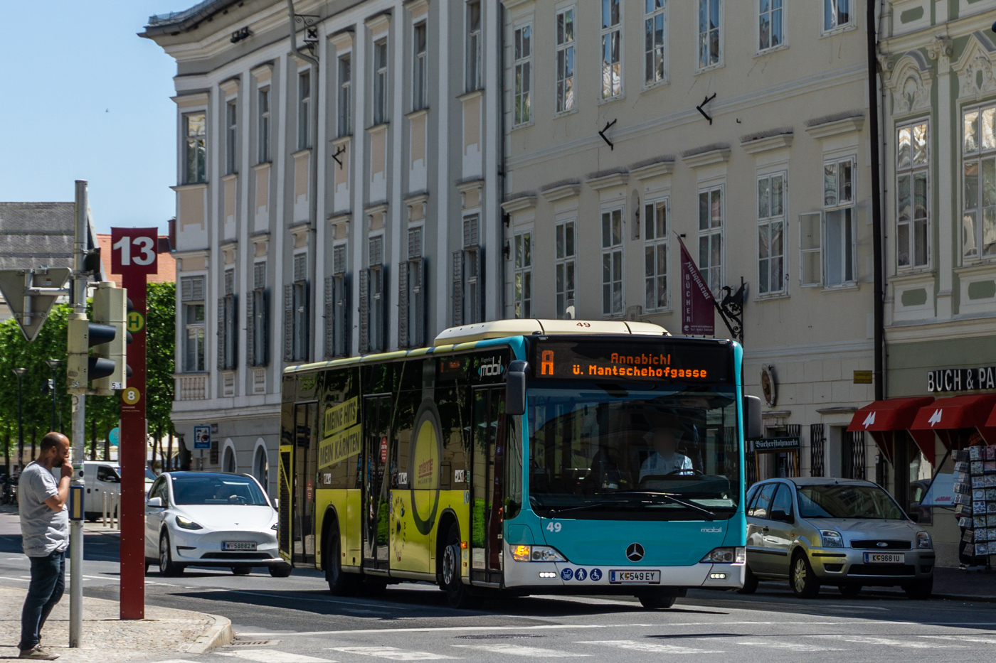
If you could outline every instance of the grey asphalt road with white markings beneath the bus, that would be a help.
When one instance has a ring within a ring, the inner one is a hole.
[[[117,539],[88,535],[84,590],[117,598]],[[544,597],[491,600],[482,609],[451,610],[427,584],[390,587],[380,596],[338,598],[320,574],[273,578],[188,568],[180,577],[146,577],[149,604],[221,614],[237,643],[172,661],[376,663],[464,659],[680,659],[822,662],[983,661],[996,645],[996,604],[911,601],[895,595],[841,596],[825,589],[795,598],[782,584],[758,593],[691,591],[672,609],[643,610],[635,600]],[[0,515],[0,584],[27,586],[16,517]],[[4,608],[10,609],[10,608]],[[668,656],[673,655],[673,656]],[[155,660],[155,659],[151,659]],[[161,659],[159,659],[161,660]]]

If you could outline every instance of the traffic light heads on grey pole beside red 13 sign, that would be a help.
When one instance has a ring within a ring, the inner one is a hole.
[[[99,283],[94,322],[79,314],[70,316],[66,380],[71,392],[84,393],[91,381],[105,394],[124,389],[125,299],[124,290],[115,284]]]

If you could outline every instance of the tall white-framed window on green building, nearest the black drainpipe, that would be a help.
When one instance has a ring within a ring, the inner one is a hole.
[[[917,161],[917,154],[914,146],[915,133],[922,127],[923,154],[921,160]],[[906,148],[903,150],[903,134],[905,134]],[[919,117],[899,124],[895,127],[895,267],[898,272],[916,271],[930,268],[930,245],[931,245],[931,214],[930,214],[930,120],[927,117]],[[902,153],[906,152],[907,162],[902,163]],[[964,170],[962,170],[964,172]],[[922,176],[923,179],[923,207],[922,217],[917,218],[916,205],[916,180]],[[903,221],[901,219],[902,200],[902,180],[908,179],[906,184],[906,195],[909,205],[909,217]],[[922,262],[917,262],[916,239],[917,226],[922,225],[923,254]],[[906,264],[900,262],[900,247],[903,244],[905,235]]]

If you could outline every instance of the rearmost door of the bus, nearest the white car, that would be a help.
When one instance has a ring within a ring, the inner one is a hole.
[[[318,477],[318,403],[294,406],[294,561],[315,563],[315,481]]]

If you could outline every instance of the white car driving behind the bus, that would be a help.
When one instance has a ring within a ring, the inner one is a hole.
[[[268,566],[287,577],[291,565],[277,546],[277,510],[249,475],[164,472],[145,502],[145,570],[163,575],[186,566],[227,566],[248,575]]]

